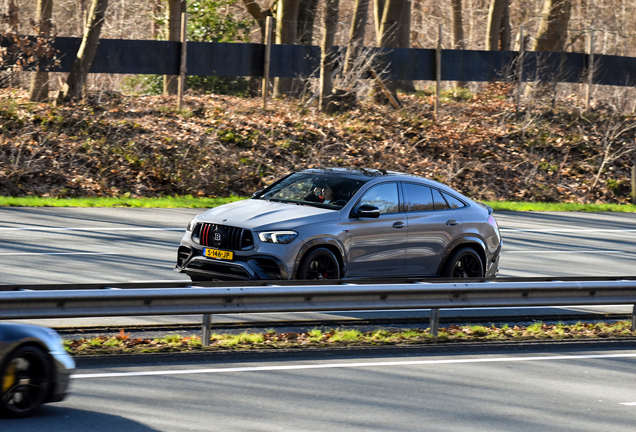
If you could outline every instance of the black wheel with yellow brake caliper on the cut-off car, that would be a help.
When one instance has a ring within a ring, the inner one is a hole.
[[[0,377],[0,414],[27,417],[46,401],[52,386],[53,366],[40,348],[23,346],[7,356]]]

